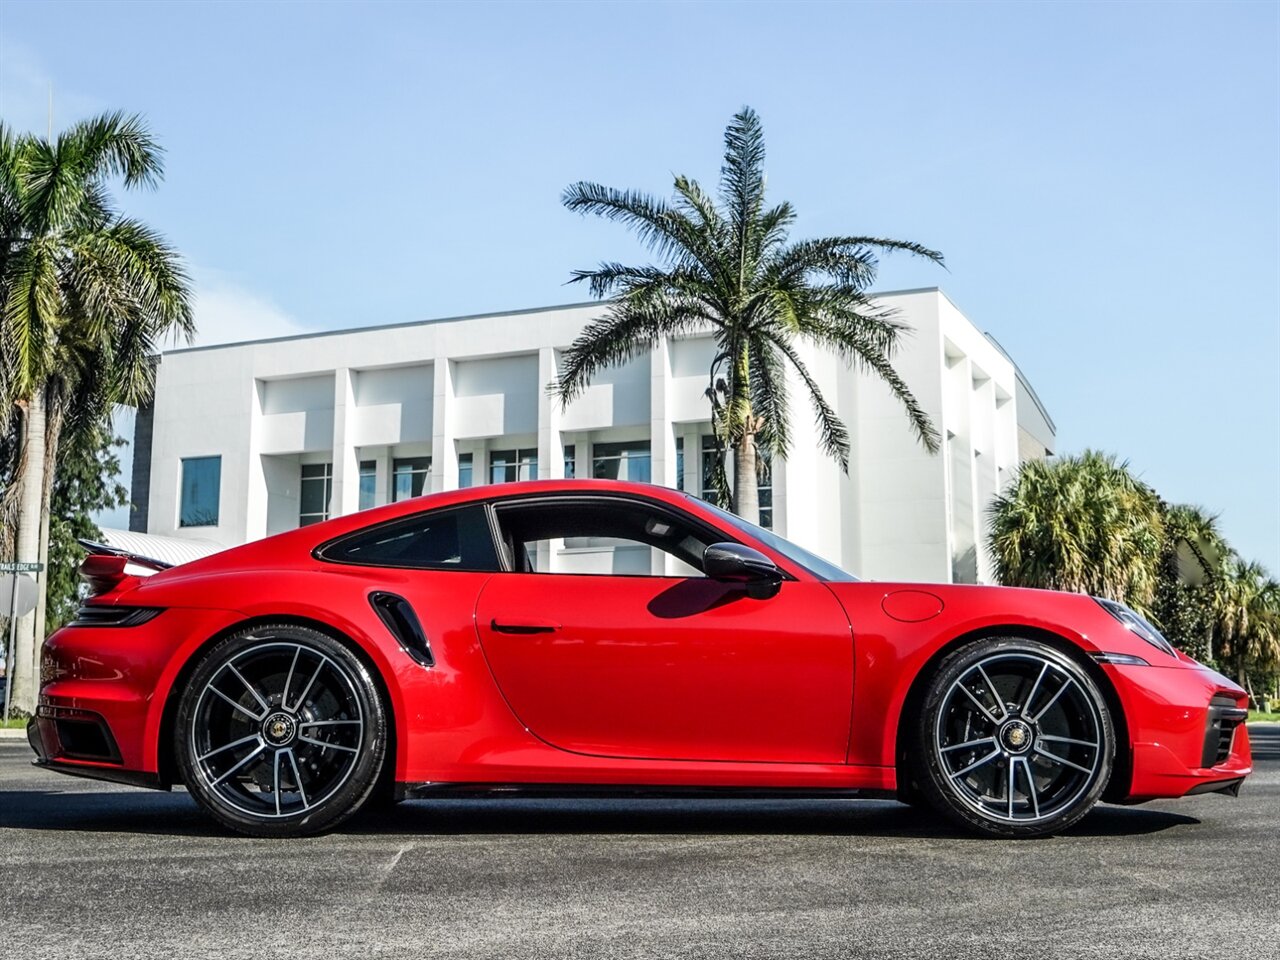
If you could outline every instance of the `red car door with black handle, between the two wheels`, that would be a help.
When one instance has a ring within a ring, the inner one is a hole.
[[[568,543],[590,541],[594,530],[594,539],[631,549],[653,543],[599,518],[631,511],[644,522],[649,509],[660,525],[673,522],[672,508],[637,507],[635,498],[604,507],[593,513],[579,503],[559,526],[554,518],[535,526],[553,543],[563,527],[573,534]],[[516,561],[508,566],[527,564],[535,550],[511,532],[518,513],[499,509],[499,525]],[[718,531],[699,538],[731,539]],[[631,559],[614,564],[635,567]],[[852,640],[844,608],[820,581],[787,580],[758,600],[700,575],[509,570],[481,590],[476,627],[512,710],[563,750],[663,760],[845,759]]]

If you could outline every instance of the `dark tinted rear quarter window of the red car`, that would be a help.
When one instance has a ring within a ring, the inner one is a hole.
[[[320,559],[365,567],[412,570],[499,570],[484,507],[419,513],[361,530],[320,548]]]

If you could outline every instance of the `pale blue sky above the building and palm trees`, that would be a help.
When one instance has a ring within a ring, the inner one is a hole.
[[[640,260],[577,179],[713,183],[763,116],[797,236],[943,251],[1060,449],[1128,458],[1280,572],[1280,6],[0,5],[0,114],[146,115],[128,200],[189,259],[202,340],[582,300]]]

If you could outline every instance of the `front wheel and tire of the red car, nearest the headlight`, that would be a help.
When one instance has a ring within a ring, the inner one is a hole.
[[[915,721],[910,769],[929,805],[955,823],[1042,837],[1093,808],[1115,750],[1106,700],[1079,663],[1037,640],[1001,637],[940,664]]]

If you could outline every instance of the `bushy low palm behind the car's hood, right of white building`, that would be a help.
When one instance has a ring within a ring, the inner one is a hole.
[[[1028,461],[989,515],[1001,584],[1088,593],[1149,613],[1164,520],[1160,499],[1126,463],[1093,451]]]

